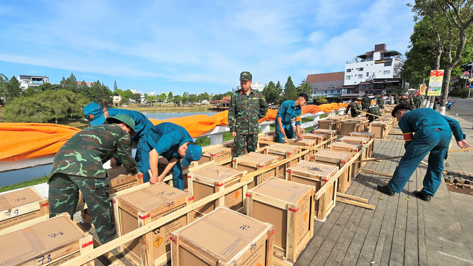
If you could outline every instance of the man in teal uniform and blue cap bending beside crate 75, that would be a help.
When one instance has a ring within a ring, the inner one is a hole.
[[[143,182],[149,181],[151,184],[161,182],[172,169],[173,185],[180,190],[184,190],[180,160],[183,159],[182,165],[188,167],[192,161],[200,160],[202,156],[202,148],[193,142],[189,132],[184,127],[170,122],[155,125],[138,144],[137,148],[142,151],[143,167],[150,169],[152,173],[150,179]],[[158,156],[168,161],[160,175],[158,175]]]

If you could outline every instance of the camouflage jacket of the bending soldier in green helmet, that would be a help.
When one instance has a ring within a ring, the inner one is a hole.
[[[136,172],[137,163],[131,157],[130,134],[114,124],[90,126],[74,134],[54,156],[54,173],[105,178],[106,161],[120,160],[128,172]]]

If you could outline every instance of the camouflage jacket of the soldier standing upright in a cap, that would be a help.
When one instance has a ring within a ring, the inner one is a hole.
[[[268,104],[257,90],[250,90],[248,96],[239,89],[232,93],[228,107],[228,127],[230,132],[242,135],[259,132],[258,120],[268,112]]]

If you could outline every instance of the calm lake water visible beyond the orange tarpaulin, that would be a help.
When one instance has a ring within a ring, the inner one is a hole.
[[[146,111],[146,112],[141,112],[141,113],[143,115],[146,115],[146,117],[148,118],[164,120],[164,119],[169,119],[169,118],[185,117],[185,116],[190,116],[190,115],[214,115],[218,112],[202,110],[200,112]],[[135,152],[133,151],[133,156],[134,156],[134,153]],[[52,168],[53,166],[49,164],[49,165],[43,165],[43,166],[37,166],[37,167],[32,167],[32,168],[26,168],[26,169],[21,169],[21,170],[16,170],[16,171],[0,173],[0,186],[9,186],[9,185],[17,184],[26,180],[32,180],[37,177],[42,177],[44,175],[49,175]]]

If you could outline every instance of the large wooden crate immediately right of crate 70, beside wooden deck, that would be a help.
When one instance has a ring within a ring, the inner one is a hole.
[[[312,238],[314,188],[272,177],[246,193],[246,215],[274,225],[275,257],[296,262]]]

